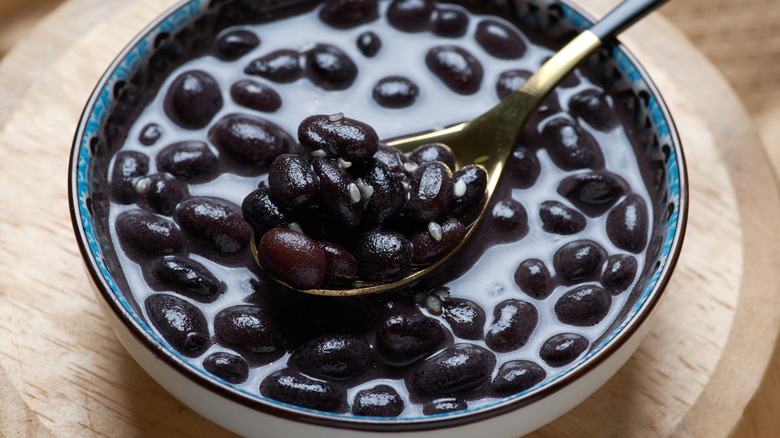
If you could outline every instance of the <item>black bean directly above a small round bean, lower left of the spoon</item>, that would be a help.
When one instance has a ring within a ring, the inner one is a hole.
[[[228,307],[214,317],[214,332],[224,345],[251,353],[273,353],[284,347],[276,321],[250,305]]]

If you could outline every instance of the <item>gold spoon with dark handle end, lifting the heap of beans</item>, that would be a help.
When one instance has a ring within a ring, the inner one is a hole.
[[[517,136],[528,118],[544,98],[571,73],[577,65],[595,52],[607,38],[617,35],[631,24],[647,15],[667,0],[624,0],[590,29],[583,31],[552,58],[542,65],[528,80],[501,103],[474,120],[463,122],[441,131],[404,137],[388,142],[401,150],[411,152],[414,148],[443,143],[449,146],[459,163],[474,163],[485,167],[488,183],[481,211],[469,226],[463,240],[436,263],[410,271],[406,276],[389,282],[355,281],[350,285],[323,286],[318,289],[302,290],[308,294],[327,296],[365,295],[397,289],[414,283],[444,265],[458,252],[474,234],[477,224],[485,215],[490,197],[495,191],[501,171],[512,152]],[[489,145],[483,148],[482,145]],[[252,255],[257,261],[257,246],[252,236]],[[277,279],[277,281],[279,281]],[[279,281],[280,283],[286,283]]]

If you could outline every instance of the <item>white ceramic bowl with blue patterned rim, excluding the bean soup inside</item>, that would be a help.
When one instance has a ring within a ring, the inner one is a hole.
[[[647,144],[638,148],[638,160],[654,172],[649,175],[652,186],[648,187],[654,203],[648,261],[621,318],[587,354],[558,376],[477,409],[415,418],[362,418],[298,408],[249,393],[214,378],[167,346],[127,290],[110,245],[104,219],[109,203],[107,144],[116,124],[132,113],[142,91],[159,86],[160,75],[150,72],[165,71],[175,64],[189,44],[198,41],[201,33],[210,33],[212,26],[231,23],[239,15],[224,12],[240,3],[183,2],[150,24],[109,66],[87,102],[74,140],[69,196],[81,253],[107,319],[125,348],[152,378],[203,416],[246,436],[403,433],[409,437],[517,437],[572,409],[626,362],[647,332],[651,312],[676,263],[685,229],[687,187],[680,142],[664,102],[637,60],[620,45],[602,51],[598,62],[611,77],[627,84],[626,98],[637,105],[637,126],[647,139]],[[258,3],[275,7],[302,2]],[[568,2],[518,1],[513,10],[556,35],[581,30],[591,21]]]

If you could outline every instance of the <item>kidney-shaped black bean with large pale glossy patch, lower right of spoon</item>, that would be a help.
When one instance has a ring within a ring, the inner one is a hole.
[[[493,351],[517,350],[528,342],[539,322],[539,313],[527,301],[509,299],[493,309],[493,323],[485,334],[485,344]]]

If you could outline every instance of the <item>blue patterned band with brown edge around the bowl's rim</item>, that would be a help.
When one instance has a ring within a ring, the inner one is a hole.
[[[556,25],[561,21],[565,21],[572,28],[583,30],[590,27],[593,23],[592,17],[578,6],[571,4],[568,0],[528,0],[528,2],[533,4],[540,3],[548,8],[551,5],[557,5],[556,12],[559,16],[557,17]],[[664,215],[658,216],[659,219],[666,220],[666,227],[659,254],[655,258],[657,262],[652,269],[653,273],[648,280],[647,286],[641,292],[640,298],[629,310],[623,322],[613,328],[612,332],[602,338],[599,344],[591,348],[584,357],[570,364],[567,371],[552,379],[545,380],[534,388],[487,406],[448,414],[388,419],[334,414],[288,405],[265,398],[259,394],[240,390],[190,364],[185,357],[167,347],[165,341],[149,327],[143,317],[136,313],[123,296],[122,291],[106,266],[101,243],[95,232],[92,212],[90,211],[90,160],[92,159],[90,142],[103,128],[111,112],[114,85],[121,81],[127,81],[143,60],[152,53],[155,37],[160,33],[174,32],[186,23],[199,18],[209,7],[209,3],[212,2],[208,0],[185,0],[173,6],[168,12],[158,17],[141,31],[106,69],[106,73],[104,73],[96,85],[85,105],[79,121],[71,151],[68,180],[72,225],[87,271],[97,286],[99,293],[133,336],[144,344],[149,351],[153,352],[158,359],[181,371],[193,383],[249,408],[316,425],[366,431],[399,432],[454,427],[485,420],[521,408],[570,385],[592,371],[617,351],[626,340],[630,339],[637,332],[658,304],[679,259],[685,234],[688,214],[685,158],[673,119],[657,88],[638,60],[622,44],[614,42],[614,50],[611,51],[610,62],[628,78],[630,88],[635,93],[639,91],[646,93],[645,107],[649,123],[656,132],[658,143],[666,146],[666,149],[662,152],[659,149],[659,154],[664,155],[664,177],[666,178],[665,184],[668,186],[668,208],[666,217]],[[545,21],[545,18],[542,17],[537,16],[535,18],[542,22]]]

